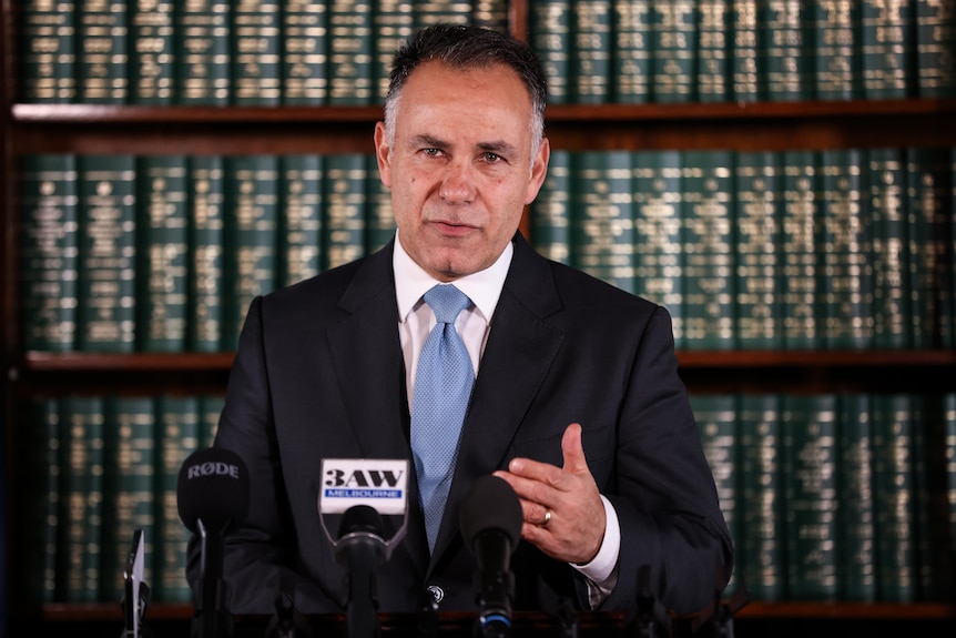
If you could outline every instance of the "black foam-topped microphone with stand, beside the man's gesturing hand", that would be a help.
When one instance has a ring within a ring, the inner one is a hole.
[[[511,634],[515,575],[511,554],[521,539],[521,503],[510,485],[497,476],[475,480],[461,503],[459,525],[465,545],[478,563],[476,601],[478,622],[486,638]]]

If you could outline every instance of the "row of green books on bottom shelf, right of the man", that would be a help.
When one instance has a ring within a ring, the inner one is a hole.
[[[952,600],[956,393],[692,395],[755,600]]]

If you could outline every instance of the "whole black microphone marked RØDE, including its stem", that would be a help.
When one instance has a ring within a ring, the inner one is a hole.
[[[191,454],[180,469],[176,506],[183,524],[200,537],[202,590],[196,597],[192,635],[232,635],[223,583],[223,539],[248,513],[250,479],[245,463],[228,449],[211,447]]]

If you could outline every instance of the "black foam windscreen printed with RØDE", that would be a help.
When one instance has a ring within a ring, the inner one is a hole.
[[[250,480],[243,459],[228,449],[210,447],[192,453],[180,468],[176,506],[190,531],[196,520],[240,525],[248,513]]]

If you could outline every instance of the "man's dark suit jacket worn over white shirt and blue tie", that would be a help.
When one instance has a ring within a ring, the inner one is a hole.
[[[618,585],[601,609],[633,605],[641,566],[664,608],[708,605],[729,578],[732,547],[678,376],[670,316],[545,260],[520,235],[429,557],[391,252],[389,244],[250,307],[215,442],[243,457],[252,485],[248,519],[226,540],[230,609],[272,612],[278,587],[305,612],[342,609],[345,571],[316,508],[323,458],[409,459],[414,505],[405,540],[378,571],[382,610],[417,610],[429,585],[444,591],[443,610],[477,609],[475,563],[458,533],[462,495],[516,456],[561,466],[561,435],[573,422],[621,525]],[[516,609],[547,611],[562,597],[586,606],[580,575],[530,544],[519,544],[511,567]],[[187,574],[197,590],[195,543]]]

